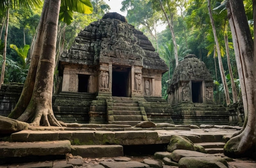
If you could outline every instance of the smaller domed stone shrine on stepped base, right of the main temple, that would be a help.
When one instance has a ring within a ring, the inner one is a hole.
[[[211,74],[195,55],[179,62],[167,93],[175,124],[229,124],[229,111],[213,103]]]

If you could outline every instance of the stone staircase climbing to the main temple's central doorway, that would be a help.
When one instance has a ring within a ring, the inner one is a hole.
[[[135,126],[141,121],[147,121],[144,107],[130,97],[112,97],[107,99],[108,124]]]

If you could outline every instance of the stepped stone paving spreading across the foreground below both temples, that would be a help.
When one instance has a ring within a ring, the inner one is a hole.
[[[175,127],[142,129],[127,125],[97,124],[29,127],[29,130],[11,134],[11,142],[0,142],[0,164],[4,161],[7,163],[9,159],[9,164],[0,165],[0,168],[177,168],[180,159],[191,162],[189,159],[192,157],[200,161],[212,161],[212,164],[219,163],[225,168],[256,167],[254,161],[249,159],[232,160],[222,153],[223,142],[227,141],[239,128],[224,126],[194,128],[197,127],[176,125]],[[220,148],[220,151],[214,152],[217,154],[196,152],[186,156],[183,155],[194,151],[180,151],[179,155],[186,159],[182,157],[175,159],[172,156],[179,150],[175,150],[173,153],[160,153],[160,159],[152,155],[131,157],[123,151],[124,145],[168,144],[173,135],[188,137],[193,143],[209,148],[209,151],[213,150],[211,148]],[[29,163],[33,161],[29,159],[31,155],[37,159],[37,162]],[[43,159],[45,156],[47,159]],[[56,156],[61,157],[56,160],[54,159]],[[20,162],[26,163],[10,164],[14,163],[17,158],[23,157],[24,160]]]

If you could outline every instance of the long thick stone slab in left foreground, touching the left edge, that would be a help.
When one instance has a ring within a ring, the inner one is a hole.
[[[71,149],[70,141],[0,142],[0,157],[65,155]]]

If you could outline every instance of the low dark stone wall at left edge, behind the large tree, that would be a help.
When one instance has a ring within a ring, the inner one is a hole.
[[[2,84],[0,90],[0,116],[7,117],[20,98],[23,84]]]

